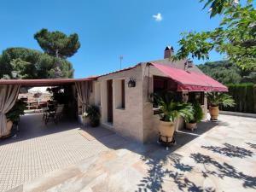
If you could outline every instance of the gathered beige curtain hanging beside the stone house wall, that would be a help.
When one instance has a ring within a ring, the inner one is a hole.
[[[79,101],[82,103],[82,113],[84,113],[86,111],[86,107],[89,105],[92,81],[76,82],[75,85],[78,91]]]

